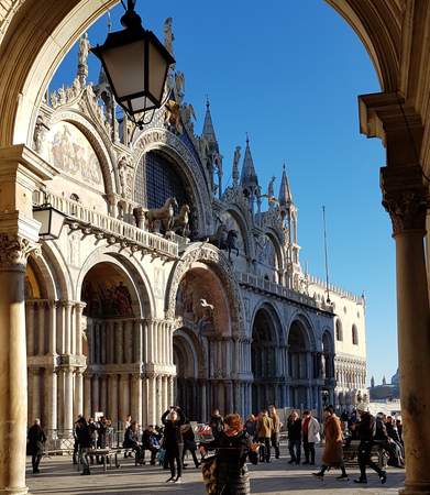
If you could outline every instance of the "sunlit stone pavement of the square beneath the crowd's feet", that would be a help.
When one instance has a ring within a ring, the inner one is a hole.
[[[367,485],[355,485],[357,470],[350,470],[350,481],[340,482],[335,476],[339,471],[330,472],[324,481],[311,475],[308,466],[289,466],[288,459],[282,457],[269,464],[251,466],[251,492],[253,495],[388,495],[397,494],[403,486],[405,472],[388,469],[386,485],[374,472],[368,473]],[[188,463],[188,465],[192,465]],[[108,470],[104,474],[102,466],[93,466],[90,476],[80,476],[73,466],[69,457],[44,459],[41,474],[31,473],[27,465],[27,485],[34,495],[203,495],[201,473],[195,468],[185,470],[181,485],[166,484],[168,471],[158,466],[134,466],[133,459],[121,459],[119,470]]]

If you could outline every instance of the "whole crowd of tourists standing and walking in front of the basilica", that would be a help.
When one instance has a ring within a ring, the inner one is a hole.
[[[207,432],[196,441],[195,431],[180,407],[170,406],[161,418],[162,426],[147,426],[143,432],[129,416],[124,421],[122,450],[124,457],[134,455],[135,464],[159,464],[170,471],[166,483],[181,483],[187,452],[191,454],[196,468],[201,465],[206,488],[209,494],[236,495],[250,493],[247,461],[269,463],[279,459],[279,437],[284,425],[274,405],[257,416],[250,415],[243,422],[236,414],[224,418],[216,409],[209,419]],[[103,449],[112,446],[111,421],[100,417],[88,420],[79,416],[75,422],[75,448],[73,462],[82,464],[82,475],[90,474],[90,465],[101,463]],[[321,426],[310,410],[290,411],[285,430],[288,440],[289,464],[313,466],[316,444],[324,438],[322,464],[312,473],[322,479],[331,469],[340,469],[338,480],[348,480],[344,465],[344,449],[356,443],[360,477],[355,483],[367,483],[366,468],[373,469],[381,482],[386,482],[386,472],[372,461],[372,449],[379,446],[388,457],[388,465],[404,466],[403,426],[400,419],[383,414],[375,418],[365,407],[352,414],[342,413],[338,417],[332,406],[324,408]],[[29,454],[32,455],[33,473],[38,465],[46,441],[45,433],[36,419],[29,430]],[[197,457],[200,454],[200,459]]]

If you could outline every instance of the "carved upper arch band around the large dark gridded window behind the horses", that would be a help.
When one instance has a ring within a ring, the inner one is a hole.
[[[188,179],[191,187],[191,193],[196,199],[198,207],[197,217],[200,229],[205,226],[205,205],[209,205],[211,199],[208,194],[206,179],[200,169],[200,165],[196,161],[192,153],[187,146],[172,132],[164,128],[152,128],[140,134],[133,143],[133,163],[135,164],[135,172],[143,155],[150,151],[159,151],[165,153],[179,166],[181,173]],[[133,193],[134,193],[133,179]]]

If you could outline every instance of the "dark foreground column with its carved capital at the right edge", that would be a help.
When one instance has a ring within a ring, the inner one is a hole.
[[[406,452],[404,494],[430,493],[430,425],[417,420],[430,410],[430,311],[423,237],[430,204],[421,168],[382,169],[383,205],[396,243],[397,328],[401,419]]]

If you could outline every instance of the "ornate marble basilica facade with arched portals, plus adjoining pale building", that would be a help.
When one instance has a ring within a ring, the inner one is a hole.
[[[29,421],[69,431],[98,411],[157,424],[172,404],[207,420],[366,400],[364,298],[302,270],[287,170],[263,191],[246,139],[224,188],[209,102],[197,134],[184,74],[139,128],[103,74],[87,82],[87,43],[33,136],[56,169],[33,202],[66,221],[26,267]]]

